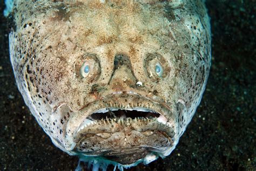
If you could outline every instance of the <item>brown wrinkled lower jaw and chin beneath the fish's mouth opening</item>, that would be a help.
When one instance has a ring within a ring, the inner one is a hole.
[[[83,155],[101,156],[122,165],[131,165],[149,154],[162,153],[171,146],[170,138],[164,133],[132,130],[114,133],[107,139],[93,134],[86,135],[79,141],[76,151]]]

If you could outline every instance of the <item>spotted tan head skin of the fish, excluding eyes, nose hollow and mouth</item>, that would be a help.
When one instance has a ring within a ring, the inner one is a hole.
[[[64,127],[69,118],[86,104],[119,90],[108,83],[115,56],[125,54],[143,87],[121,90],[170,106],[180,136],[200,102],[210,67],[210,26],[204,7],[190,1],[183,5],[174,1],[81,2],[85,4],[41,1],[33,10],[35,4],[24,1],[15,16],[16,30],[10,33],[19,90],[44,131],[67,152]],[[203,12],[198,13],[198,8]],[[23,13],[23,19],[18,13]],[[93,83],[78,80],[74,74],[74,63],[88,53],[95,54],[101,64],[100,76]],[[168,77],[159,81],[147,77],[145,58],[150,53],[165,59],[171,67]],[[114,77],[116,85],[123,84],[118,79],[123,75]],[[95,85],[101,90],[96,94],[92,92]],[[77,127],[76,122],[70,124]]]

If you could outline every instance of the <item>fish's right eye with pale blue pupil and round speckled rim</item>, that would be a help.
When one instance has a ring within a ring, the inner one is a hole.
[[[170,66],[160,54],[150,53],[145,58],[144,67],[147,76],[154,79],[161,79],[167,76]]]

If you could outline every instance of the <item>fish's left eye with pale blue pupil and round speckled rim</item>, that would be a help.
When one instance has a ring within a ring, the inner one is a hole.
[[[88,81],[96,80],[100,74],[99,60],[94,54],[85,54],[77,59],[76,76]]]

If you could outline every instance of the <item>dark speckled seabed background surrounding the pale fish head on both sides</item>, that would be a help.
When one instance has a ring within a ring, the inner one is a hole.
[[[0,1],[0,170],[73,170],[15,85]],[[173,153],[131,170],[256,170],[256,1],[211,0],[212,68],[203,100]]]

